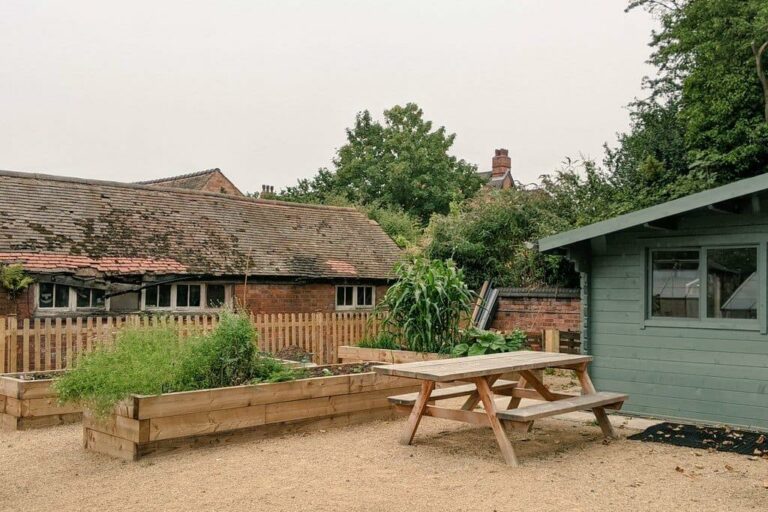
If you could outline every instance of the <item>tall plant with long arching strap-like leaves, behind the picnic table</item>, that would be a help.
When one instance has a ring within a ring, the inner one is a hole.
[[[469,314],[474,293],[452,261],[416,258],[396,268],[398,280],[377,311],[383,326],[408,350],[444,352],[459,340],[459,322]]]

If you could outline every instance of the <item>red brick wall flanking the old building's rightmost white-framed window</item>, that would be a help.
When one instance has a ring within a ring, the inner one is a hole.
[[[235,300],[243,303],[243,286],[235,285]],[[376,300],[387,291],[376,287]],[[246,306],[253,313],[314,313],[336,311],[336,285],[333,283],[253,283],[248,284]]]

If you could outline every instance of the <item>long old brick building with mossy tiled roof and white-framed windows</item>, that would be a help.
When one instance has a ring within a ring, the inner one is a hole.
[[[16,301],[0,289],[0,315],[348,311],[383,295],[401,251],[364,214],[221,193],[206,173],[180,186],[0,171],[0,264],[35,279]]]

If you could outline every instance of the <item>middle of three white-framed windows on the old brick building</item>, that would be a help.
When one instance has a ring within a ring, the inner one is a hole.
[[[232,286],[219,283],[169,283],[142,290],[141,309],[194,311],[220,309],[230,304]]]

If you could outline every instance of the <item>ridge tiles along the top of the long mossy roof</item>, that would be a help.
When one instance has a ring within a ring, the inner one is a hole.
[[[348,211],[348,212],[355,212],[360,215],[364,215],[363,212],[361,212],[357,208],[350,207],[350,206],[331,206],[331,205],[315,204],[315,203],[294,203],[291,201],[280,201],[276,199],[259,199],[255,197],[249,197],[246,195],[234,196],[231,194],[221,194],[219,192],[208,192],[206,190],[191,190],[191,189],[174,188],[174,187],[153,187],[151,185],[147,185],[144,183],[125,183],[122,181],[94,180],[94,179],[86,179],[86,178],[76,178],[72,176],[57,176],[54,174],[43,174],[43,173],[29,172],[29,171],[7,171],[3,169],[0,169],[0,176],[8,176],[12,178],[22,178],[22,179],[40,180],[40,181],[58,181],[58,182],[64,182],[64,183],[78,183],[81,185],[101,185],[105,187],[115,187],[115,188],[132,188],[132,189],[138,189],[138,190],[152,191],[153,193],[156,193],[156,194],[190,194],[190,195],[197,195],[197,196],[204,195],[209,197],[217,197],[219,199],[228,200],[228,201],[247,201],[247,202],[257,203],[264,206]]]

